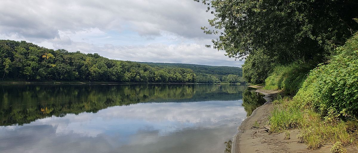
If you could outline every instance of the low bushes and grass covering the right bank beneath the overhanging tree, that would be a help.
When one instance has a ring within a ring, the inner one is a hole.
[[[299,128],[297,138],[308,149],[332,143],[332,152],[345,152],[344,146],[358,144],[358,34],[336,52],[307,77],[305,68],[290,64],[276,67],[265,80],[264,89],[286,94],[299,89],[292,99],[279,95],[273,102],[270,132]]]

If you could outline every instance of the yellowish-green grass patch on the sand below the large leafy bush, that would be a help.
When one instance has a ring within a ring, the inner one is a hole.
[[[321,120],[320,114],[301,105],[300,101],[287,97],[279,97],[273,104],[274,110],[269,117],[270,132],[300,128],[297,138],[306,143],[308,149],[319,149],[325,143],[356,145],[358,142],[357,120],[326,122]]]

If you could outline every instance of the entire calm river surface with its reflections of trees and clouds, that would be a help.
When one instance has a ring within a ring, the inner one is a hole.
[[[1,153],[223,153],[265,102],[231,85],[0,88]]]

